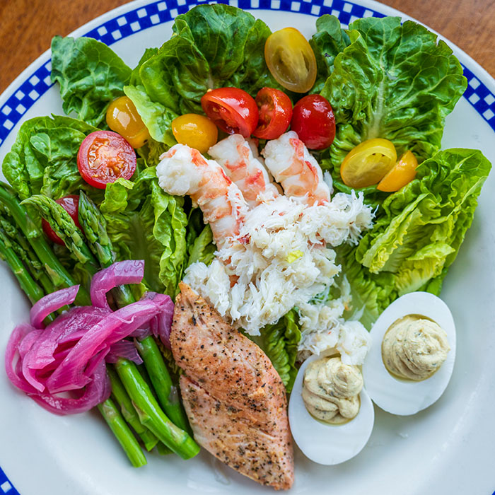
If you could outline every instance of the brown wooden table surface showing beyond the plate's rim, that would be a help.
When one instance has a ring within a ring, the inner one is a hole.
[[[0,93],[30,62],[67,35],[127,0],[0,0]],[[429,25],[495,76],[495,0],[383,0]]]

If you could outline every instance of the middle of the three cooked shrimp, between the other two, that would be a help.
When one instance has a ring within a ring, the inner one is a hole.
[[[279,195],[279,190],[264,168],[256,148],[251,148],[250,143],[240,134],[232,134],[222,139],[215,146],[211,146],[208,153],[220,163],[228,177],[239,187],[251,208]]]

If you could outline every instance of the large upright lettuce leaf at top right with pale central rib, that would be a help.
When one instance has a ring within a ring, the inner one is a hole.
[[[337,124],[330,148],[336,177],[347,153],[375,137],[390,139],[398,155],[410,149],[419,162],[432,156],[467,86],[452,50],[398,17],[358,19],[347,33],[350,44],[334,57],[321,92]]]

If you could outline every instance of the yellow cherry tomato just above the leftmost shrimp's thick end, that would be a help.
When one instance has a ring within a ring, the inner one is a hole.
[[[172,132],[177,143],[196,148],[199,153],[206,153],[216,143],[219,129],[203,115],[186,113],[172,121]]]

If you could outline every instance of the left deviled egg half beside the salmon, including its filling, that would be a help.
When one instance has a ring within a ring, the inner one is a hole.
[[[363,449],[375,413],[362,387],[361,370],[344,365],[338,356],[311,356],[304,361],[291,392],[289,424],[306,457],[334,465]]]

